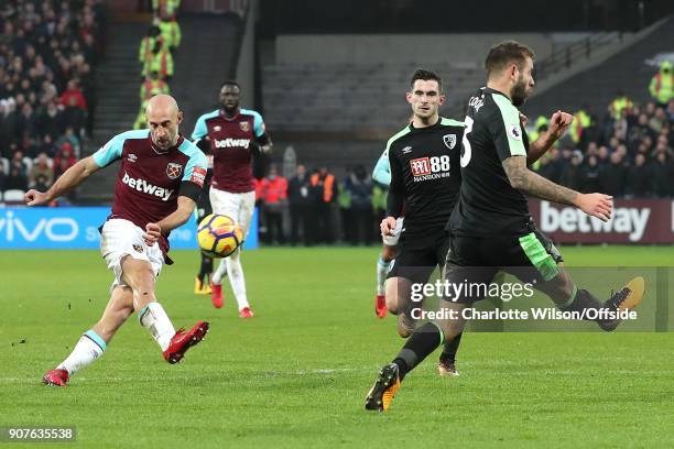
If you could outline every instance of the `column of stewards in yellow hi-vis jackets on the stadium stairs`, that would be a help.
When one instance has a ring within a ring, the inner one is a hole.
[[[181,0],[152,0],[152,25],[138,50],[141,66],[140,109],[133,129],[146,128],[145,107],[159,94],[171,94],[168,83],[173,78],[173,55],[181,45],[181,26],[177,13]]]

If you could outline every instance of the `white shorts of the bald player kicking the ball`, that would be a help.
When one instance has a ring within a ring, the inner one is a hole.
[[[109,270],[115,273],[115,281],[110,292],[118,285],[126,285],[122,280],[121,261],[124,255],[139,261],[148,261],[152,265],[156,278],[164,266],[164,254],[154,243],[148,247],[143,240],[145,231],[129,220],[113,218],[106,221],[100,233],[100,255],[102,255]]]

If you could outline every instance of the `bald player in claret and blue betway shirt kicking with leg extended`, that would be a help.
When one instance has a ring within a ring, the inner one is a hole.
[[[173,263],[167,255],[168,234],[194,211],[206,175],[206,157],[178,134],[183,113],[173,97],[153,97],[146,116],[150,130],[116,135],[93,156],[68,168],[46,193],[31,189],[25,194],[29,206],[48,204],[100,168],[121,161],[112,211],[100,231],[100,253],[115,273],[110,300],[67,359],[44,374],[47,385],[65,386],[73,374],[102,355],[133,313],[168,363],[180,362],[208,331],[206,321],[188,331],[176,331],[154,293],[164,263]]]

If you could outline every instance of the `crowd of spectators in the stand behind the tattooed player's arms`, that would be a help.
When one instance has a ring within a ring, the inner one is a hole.
[[[539,118],[530,138],[546,127]],[[637,105],[619,95],[602,116],[576,111],[570,131],[541,158],[539,174],[578,191],[618,198],[674,195],[673,98]]]

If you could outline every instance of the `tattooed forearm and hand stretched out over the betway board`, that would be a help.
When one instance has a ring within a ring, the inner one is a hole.
[[[602,221],[611,218],[613,197],[604,194],[580,194],[561,186],[526,167],[524,156],[507,157],[502,162],[510,185],[525,194],[563,205],[575,206]]]

